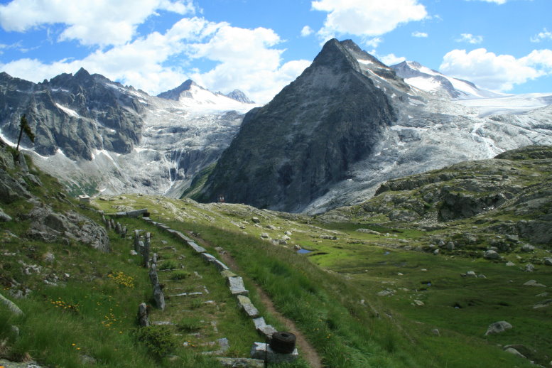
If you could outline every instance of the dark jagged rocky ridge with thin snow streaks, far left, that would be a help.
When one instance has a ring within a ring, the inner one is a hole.
[[[137,95],[82,68],[38,84],[0,73],[2,133],[17,141],[26,114],[36,141],[22,144],[43,156],[61,150],[90,160],[95,149],[129,153],[140,139],[143,109]]]

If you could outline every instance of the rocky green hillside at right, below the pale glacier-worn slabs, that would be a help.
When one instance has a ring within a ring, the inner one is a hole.
[[[362,221],[384,215],[389,221],[415,222],[424,229],[465,221],[475,228],[463,229],[455,246],[475,249],[487,239],[495,249],[485,252],[485,258],[499,259],[500,252],[514,248],[531,253],[535,249],[531,244],[552,244],[551,165],[552,146],[527,146],[491,160],[389,180],[372,199],[320,218]],[[491,239],[491,233],[503,235]]]

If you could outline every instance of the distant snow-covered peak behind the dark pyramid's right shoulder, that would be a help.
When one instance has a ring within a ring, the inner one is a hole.
[[[391,65],[391,69],[399,77],[404,78],[408,85],[441,97],[473,99],[507,96],[507,94],[481,90],[472,82],[448,77],[415,61],[404,61]]]

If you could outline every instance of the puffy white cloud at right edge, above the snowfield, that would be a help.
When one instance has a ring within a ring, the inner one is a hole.
[[[466,53],[452,50],[443,57],[440,71],[445,75],[475,82],[488,90],[508,91],[544,75],[552,75],[552,50],[534,50],[523,58],[496,55],[485,48]]]

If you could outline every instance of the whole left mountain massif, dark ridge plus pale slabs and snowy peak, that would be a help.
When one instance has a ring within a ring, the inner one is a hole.
[[[15,144],[26,114],[35,161],[76,192],[179,196],[217,161],[254,107],[188,80],[151,97],[81,69],[33,83],[0,73],[0,136]]]

